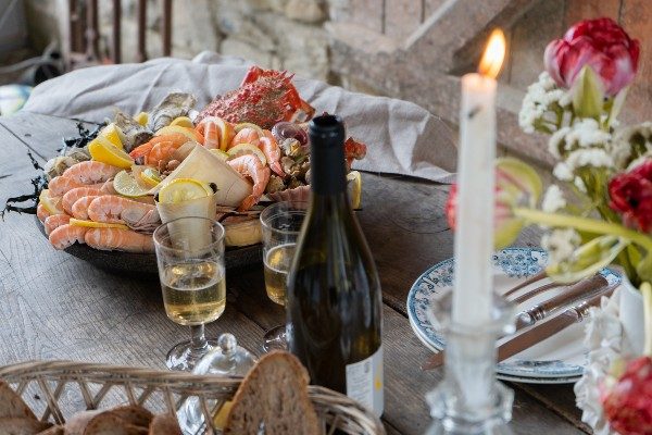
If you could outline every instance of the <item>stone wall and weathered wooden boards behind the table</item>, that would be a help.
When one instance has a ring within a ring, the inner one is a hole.
[[[67,0],[25,0],[37,45],[66,37]],[[136,1],[123,0],[123,61],[136,59]],[[550,162],[544,138],[521,133],[516,114],[543,69],[543,49],[581,18],[611,16],[641,40],[640,74],[623,117],[652,117],[651,0],[176,0],[173,55],[202,50],[371,94],[415,101],[454,124],[459,77],[477,65],[488,33],[506,30],[500,89],[505,152]],[[148,1],[148,54],[161,55],[161,2]],[[111,2],[100,0],[101,47]]]

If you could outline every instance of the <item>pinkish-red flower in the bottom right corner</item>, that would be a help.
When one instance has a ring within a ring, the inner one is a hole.
[[[620,435],[652,435],[652,358],[630,361],[612,388],[602,391],[611,428]]]

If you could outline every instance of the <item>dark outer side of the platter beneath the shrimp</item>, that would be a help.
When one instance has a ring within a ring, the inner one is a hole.
[[[36,226],[41,232],[43,237],[46,231],[43,225],[35,216]],[[54,248],[52,248],[54,249]],[[134,253],[121,251],[101,251],[86,245],[75,244],[70,248],[64,249],[65,252],[73,257],[77,257],[96,268],[113,273],[129,273],[129,274],[158,274],[156,256],[154,253]],[[262,245],[243,246],[240,248],[227,248],[224,262],[226,269],[237,269],[246,265],[260,263],[263,260]]]

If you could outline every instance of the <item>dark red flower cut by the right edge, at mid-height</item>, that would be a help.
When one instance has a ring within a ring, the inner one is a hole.
[[[623,215],[626,226],[652,233],[652,159],[609,184],[610,207]]]

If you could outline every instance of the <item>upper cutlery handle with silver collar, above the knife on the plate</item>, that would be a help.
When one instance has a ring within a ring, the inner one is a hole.
[[[600,274],[594,275],[589,279],[582,279],[544,302],[538,303],[535,307],[518,313],[516,315],[516,331],[531,326],[538,321],[549,318],[551,314],[554,314],[564,308],[586,300],[599,293],[603,293],[607,286],[607,281]]]

